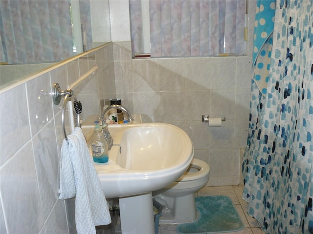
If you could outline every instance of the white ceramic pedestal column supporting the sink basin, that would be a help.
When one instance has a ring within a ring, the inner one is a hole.
[[[152,193],[119,198],[122,234],[154,234]]]

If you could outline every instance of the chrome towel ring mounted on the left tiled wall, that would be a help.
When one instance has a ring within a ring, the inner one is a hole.
[[[63,107],[62,107],[62,114],[61,114],[61,122],[62,122],[62,126],[63,126],[63,135],[64,138],[67,140],[67,133],[66,133],[66,129],[65,129],[65,121],[64,121],[64,116],[65,116],[65,109],[66,109],[66,105],[67,105],[67,101],[71,101],[72,99],[74,99],[74,109],[75,112],[77,114],[76,117],[76,127],[80,127],[80,118],[79,118],[79,114],[82,112],[82,103],[80,101],[77,100],[77,98],[75,97],[73,91],[71,89],[66,89],[65,91],[62,91],[60,88],[59,83],[53,83],[53,94],[52,94],[52,98],[53,98],[53,103],[55,105],[59,105],[61,98],[64,97],[64,101],[63,101]]]

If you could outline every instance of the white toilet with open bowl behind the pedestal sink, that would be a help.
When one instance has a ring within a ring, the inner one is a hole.
[[[194,193],[209,180],[210,167],[200,160],[192,159],[187,171],[169,186],[153,192],[153,196],[163,209],[160,224],[192,222],[198,213]]]

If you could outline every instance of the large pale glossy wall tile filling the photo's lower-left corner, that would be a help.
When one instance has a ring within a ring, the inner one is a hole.
[[[0,170],[3,214],[8,233],[36,234],[44,225],[31,141]]]

